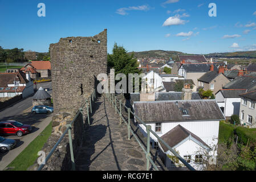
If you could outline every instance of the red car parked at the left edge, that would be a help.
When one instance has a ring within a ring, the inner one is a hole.
[[[22,135],[30,133],[32,127],[29,125],[23,125],[18,121],[0,121],[0,135]]]

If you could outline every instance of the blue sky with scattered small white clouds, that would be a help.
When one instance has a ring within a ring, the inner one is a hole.
[[[38,3],[46,5],[39,17]],[[216,3],[217,17],[210,17]],[[108,29],[113,44],[128,51],[186,53],[256,50],[254,0],[0,0],[0,46],[47,52],[67,36],[94,36]]]

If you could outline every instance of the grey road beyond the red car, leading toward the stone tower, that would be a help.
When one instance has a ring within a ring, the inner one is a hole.
[[[42,84],[37,84],[36,89],[39,89],[39,87],[42,86],[42,88],[49,88],[48,91],[49,94],[52,92],[51,88],[51,82],[46,82]],[[34,86],[35,88],[35,86]],[[6,109],[0,111],[0,120],[2,119],[13,119],[15,115],[21,114],[24,110],[28,109],[32,106],[32,96],[26,98],[25,100],[18,102],[17,104],[7,107]]]

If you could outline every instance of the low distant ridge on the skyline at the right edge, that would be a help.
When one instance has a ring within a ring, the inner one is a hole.
[[[209,53],[205,57],[251,57],[256,58],[256,51]]]

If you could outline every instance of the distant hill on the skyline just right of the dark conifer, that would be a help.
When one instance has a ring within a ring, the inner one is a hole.
[[[178,51],[162,51],[162,50],[152,50],[152,51],[142,51],[142,52],[128,52],[128,54],[134,53],[135,57],[143,57],[143,58],[170,58],[176,59],[177,55],[184,55],[185,53]]]

